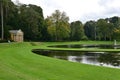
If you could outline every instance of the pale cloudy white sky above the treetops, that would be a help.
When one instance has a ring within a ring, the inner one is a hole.
[[[80,20],[85,23],[120,16],[120,0],[19,0],[19,2],[40,6],[45,18],[55,10],[64,11],[70,22]]]

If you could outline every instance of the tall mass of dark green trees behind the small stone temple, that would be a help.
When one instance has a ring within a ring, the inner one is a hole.
[[[4,32],[5,39],[8,39],[9,30],[22,29],[26,40],[44,40],[45,22],[42,8],[36,5],[14,5],[11,0],[7,3],[8,8],[4,9]]]

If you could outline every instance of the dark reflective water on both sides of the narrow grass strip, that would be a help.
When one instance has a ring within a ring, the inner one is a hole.
[[[59,48],[100,48],[100,49],[120,49],[120,45],[56,45],[49,47]],[[120,68],[120,52],[81,52],[81,51],[57,51],[34,49],[34,53],[79,62],[90,65]]]

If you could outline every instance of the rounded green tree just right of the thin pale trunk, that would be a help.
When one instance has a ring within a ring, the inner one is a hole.
[[[99,19],[97,21],[97,36],[99,40],[112,40],[114,26],[107,19]]]

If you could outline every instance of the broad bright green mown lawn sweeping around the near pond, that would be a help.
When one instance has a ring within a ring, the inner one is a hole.
[[[92,41],[0,44],[0,80],[119,80],[119,69],[73,63],[31,52],[55,44],[96,43],[112,44]]]

